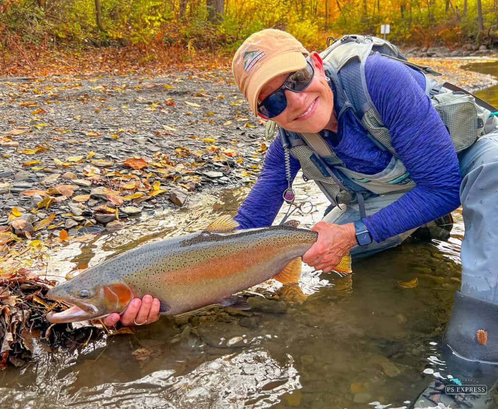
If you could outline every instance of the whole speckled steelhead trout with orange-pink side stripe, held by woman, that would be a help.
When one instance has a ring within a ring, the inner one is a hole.
[[[205,231],[144,244],[91,267],[49,290],[47,296],[73,305],[49,312],[50,322],[73,322],[122,313],[145,294],[161,302],[160,313],[180,314],[211,304],[247,308],[234,294],[273,277],[296,283],[301,256],[318,233],[294,225],[234,230],[230,216]],[[351,272],[351,257],[337,271]]]

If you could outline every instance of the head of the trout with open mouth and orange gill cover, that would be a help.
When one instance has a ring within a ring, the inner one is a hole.
[[[100,284],[78,278],[75,277],[48,291],[48,298],[73,306],[61,312],[49,312],[49,322],[84,321],[102,318],[113,312],[121,313],[133,299],[133,291],[123,282]]]

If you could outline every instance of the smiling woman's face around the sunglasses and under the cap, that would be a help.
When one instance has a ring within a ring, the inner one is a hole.
[[[337,127],[334,98],[329,83],[325,79],[322,61],[318,54],[313,53],[311,62],[315,68],[311,83],[300,93],[285,90],[287,107],[271,120],[282,128],[294,132],[316,133],[322,129],[335,131]],[[259,93],[259,102],[279,89],[288,75],[289,73],[279,75],[266,83]]]

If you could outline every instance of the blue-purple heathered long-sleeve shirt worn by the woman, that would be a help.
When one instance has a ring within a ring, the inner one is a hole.
[[[420,226],[460,205],[461,177],[453,142],[425,95],[423,76],[404,64],[375,54],[365,67],[367,87],[391,144],[416,186],[394,203],[364,218],[375,241]],[[375,174],[392,155],[378,148],[354,115],[339,118],[337,133],[322,131],[336,155],[351,170]],[[291,157],[291,177],[300,168]],[[283,148],[275,138],[261,174],[235,219],[243,228],[267,226],[282,205],[287,187]]]

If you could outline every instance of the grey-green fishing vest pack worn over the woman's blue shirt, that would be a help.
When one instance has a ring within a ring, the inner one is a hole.
[[[363,174],[348,169],[318,133],[296,133],[280,128],[282,146],[299,161],[305,180],[313,180],[327,199],[336,205],[357,199],[363,202],[365,196],[400,193],[415,186],[392,147],[389,130],[382,122],[367,88],[365,64],[375,52],[424,75],[425,93],[448,129],[457,153],[470,147],[485,133],[491,112],[497,110],[452,84],[438,84],[427,74],[440,73],[409,62],[396,46],[386,40],[362,35],[347,35],[334,40],[320,53],[320,57],[335,89],[338,119],[347,109],[351,109],[373,143],[393,155],[381,172]],[[275,128],[275,123],[268,121],[266,135],[273,136]],[[360,206],[364,207],[363,203]]]

